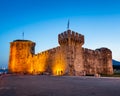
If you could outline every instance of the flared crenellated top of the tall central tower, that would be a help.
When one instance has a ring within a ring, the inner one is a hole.
[[[76,44],[84,44],[84,36],[78,34],[77,32],[67,30],[58,35],[58,42],[60,45],[76,45]]]

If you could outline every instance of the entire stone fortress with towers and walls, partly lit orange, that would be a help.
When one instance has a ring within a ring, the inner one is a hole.
[[[113,74],[112,52],[108,48],[83,48],[84,36],[67,30],[58,35],[60,46],[35,54],[35,42],[14,40],[10,43],[9,72],[83,76]]]

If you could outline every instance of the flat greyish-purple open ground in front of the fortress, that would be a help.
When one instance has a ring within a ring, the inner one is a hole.
[[[2,75],[0,96],[120,96],[120,78]]]

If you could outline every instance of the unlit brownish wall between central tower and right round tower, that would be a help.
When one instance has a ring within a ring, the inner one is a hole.
[[[100,53],[96,52],[91,49],[83,48],[83,55],[84,55],[84,68],[86,74],[96,74],[97,70],[101,67],[100,65]],[[98,67],[98,69],[97,69]]]

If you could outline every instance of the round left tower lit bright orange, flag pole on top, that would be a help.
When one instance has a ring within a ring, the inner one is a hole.
[[[26,73],[27,59],[35,53],[35,43],[29,40],[14,40],[10,42],[9,72]]]

